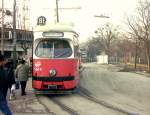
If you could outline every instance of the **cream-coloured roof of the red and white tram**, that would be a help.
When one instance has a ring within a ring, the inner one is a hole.
[[[78,36],[76,31],[73,29],[73,24],[62,24],[62,23],[56,23],[56,24],[47,24],[44,26],[36,26],[34,29],[35,32],[72,32]]]

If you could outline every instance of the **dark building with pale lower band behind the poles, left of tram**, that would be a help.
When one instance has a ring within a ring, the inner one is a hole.
[[[4,28],[4,44],[0,46],[0,51],[4,49],[4,55],[8,58],[13,55],[13,29]],[[0,42],[1,42],[1,28],[0,28]],[[32,50],[33,31],[16,29],[16,54],[17,57],[27,55],[27,51]]]

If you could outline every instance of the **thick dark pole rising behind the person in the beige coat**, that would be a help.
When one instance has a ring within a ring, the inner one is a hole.
[[[16,0],[14,0],[13,4],[13,62],[14,68],[16,68]]]

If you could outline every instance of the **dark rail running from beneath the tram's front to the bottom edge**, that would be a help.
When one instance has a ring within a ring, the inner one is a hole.
[[[63,110],[65,110],[66,112],[68,112],[70,115],[79,115],[79,113],[68,107],[67,105],[63,104],[62,102],[60,102],[58,99],[55,99],[55,98],[51,98],[51,100],[56,103],[58,106],[60,106]]]

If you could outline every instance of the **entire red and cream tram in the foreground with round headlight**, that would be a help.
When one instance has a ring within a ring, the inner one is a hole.
[[[79,83],[78,34],[62,26],[34,32],[32,87],[35,93],[73,91]]]

